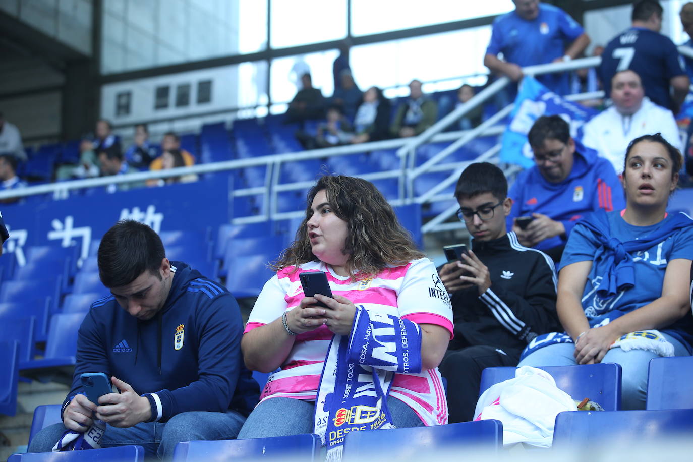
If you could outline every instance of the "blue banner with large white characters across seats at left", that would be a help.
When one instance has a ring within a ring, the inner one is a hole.
[[[157,233],[181,229],[207,229],[228,223],[229,175],[211,175],[205,181],[138,188],[107,193],[94,188],[62,200],[29,197],[24,203],[3,204],[2,215],[10,233],[5,253],[14,253],[23,266],[24,247],[78,246],[82,261],[92,240],[100,240],[118,220],[136,220]]]

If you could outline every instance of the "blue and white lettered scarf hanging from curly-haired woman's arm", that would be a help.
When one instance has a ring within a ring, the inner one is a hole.
[[[351,334],[332,337],[315,400],[315,433],[326,460],[342,459],[349,432],[394,428],[387,409],[394,374],[419,372],[419,326],[358,306]]]

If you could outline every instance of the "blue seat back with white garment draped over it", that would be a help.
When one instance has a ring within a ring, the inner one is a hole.
[[[540,367],[550,373],[556,387],[568,393],[573,400],[590,398],[607,411],[621,409],[621,366],[613,362],[579,364],[577,366]],[[481,374],[479,394],[493,384],[515,377],[515,367],[487,367]]]

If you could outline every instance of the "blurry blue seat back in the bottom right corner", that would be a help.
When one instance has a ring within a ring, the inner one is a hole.
[[[693,409],[567,411],[556,416],[553,447],[597,447],[615,441],[656,447],[665,437],[681,435],[690,441],[692,433]]]

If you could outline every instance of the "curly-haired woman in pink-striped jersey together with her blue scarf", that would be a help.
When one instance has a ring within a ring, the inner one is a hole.
[[[281,369],[238,438],[317,433],[330,456],[350,431],[447,423],[450,299],[373,184],[321,177],[274,267],[241,347],[248,368]],[[317,271],[334,299],[305,296],[299,274]]]

